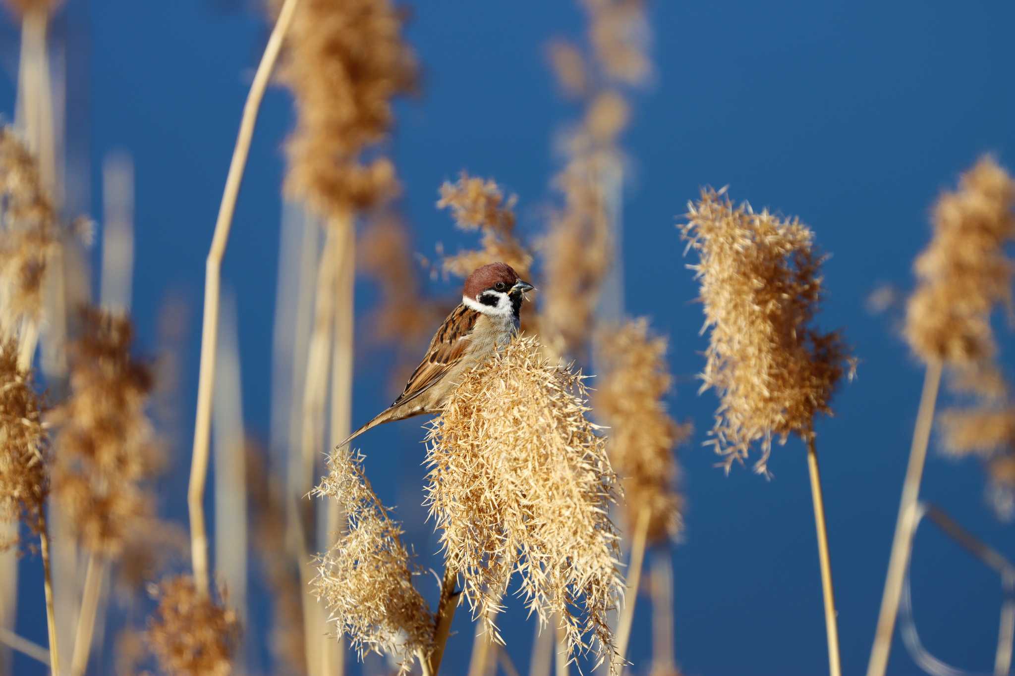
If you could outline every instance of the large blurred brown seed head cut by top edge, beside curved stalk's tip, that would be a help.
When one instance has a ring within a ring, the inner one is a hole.
[[[363,158],[393,121],[391,100],[412,89],[416,63],[388,0],[304,0],[286,41],[282,80],[295,97],[286,190],[329,216],[398,192],[394,165]]]

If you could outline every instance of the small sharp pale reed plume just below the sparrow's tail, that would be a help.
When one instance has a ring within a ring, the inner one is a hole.
[[[387,653],[407,673],[412,659],[430,650],[433,616],[412,585],[420,571],[402,544],[402,528],[363,475],[362,460],[347,447],[336,449],[314,491],[339,502],[347,530],[318,558],[313,592],[360,659]]]

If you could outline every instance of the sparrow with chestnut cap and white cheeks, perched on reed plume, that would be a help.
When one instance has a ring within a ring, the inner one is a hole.
[[[382,423],[439,412],[461,377],[518,332],[522,301],[534,288],[503,262],[473,271],[465,281],[462,302],[441,324],[402,393],[338,447]]]

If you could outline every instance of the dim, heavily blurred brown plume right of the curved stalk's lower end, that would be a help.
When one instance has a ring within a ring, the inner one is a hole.
[[[252,542],[261,558],[265,584],[272,593],[271,652],[278,671],[306,674],[301,602],[304,590],[299,583],[298,564],[279,555],[286,548],[284,485],[272,480],[265,469],[262,451],[252,443],[247,446],[247,485],[251,532],[257,533]]]

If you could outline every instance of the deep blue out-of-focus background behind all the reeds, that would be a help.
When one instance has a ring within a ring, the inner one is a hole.
[[[558,167],[552,141],[578,115],[556,95],[542,48],[554,35],[579,37],[583,13],[572,2],[408,4],[407,37],[424,80],[421,96],[397,106],[392,150],[416,249],[432,253],[436,241],[451,248],[467,241],[433,206],[437,185],[461,169],[517,193],[521,230],[538,235]],[[734,199],[799,215],[813,227],[833,254],[820,321],[843,327],[862,360],[859,379],[834,401],[835,418],[818,426],[843,671],[859,674],[874,633],[922,379],[893,320],[870,315],[865,299],[881,283],[909,287],[910,262],[928,238],[929,206],[959,170],[985,151],[1015,167],[1015,4],[714,0],[655,2],[649,11],[655,82],[636,96],[623,139],[633,162],[624,203],[625,303],[670,336],[677,378],[670,407],[697,428],[680,450],[688,509],[685,542],[673,549],[677,657],[694,675],[827,669],[801,445],[775,450],[770,481],[743,468],[724,476],[699,445],[716,400],[710,392],[695,394],[704,339],[674,223],[700,185],[730,184]],[[70,0],[54,30],[72,55],[69,135],[93,176],[90,202],[85,196],[79,206],[99,222],[94,177],[101,157],[116,148],[134,156],[134,314],[142,347],[154,350],[157,313],[168,295],[190,307],[182,443],[160,492],[165,513],[185,523],[203,261],[267,29],[256,8],[236,3]],[[11,116],[17,32],[8,21],[0,35],[0,110]],[[264,104],[223,271],[238,295],[247,422],[263,438],[280,147],[291,122],[289,97],[276,88]],[[456,295],[452,285],[433,284],[431,291]],[[361,282],[357,306],[366,309],[375,298],[371,284]],[[362,421],[390,398],[390,355],[367,349],[362,333],[357,339],[353,419]],[[1009,333],[1003,342],[1011,347]],[[424,562],[438,567],[429,557],[436,537],[419,506],[420,437],[418,425],[406,422],[371,432],[362,446],[382,498],[398,504],[409,540]],[[1011,527],[993,516],[984,484],[977,463],[935,454],[924,496],[1015,557]],[[919,534],[915,557],[925,644],[949,662],[990,672],[1001,601],[996,576],[931,528]],[[45,643],[38,560],[23,568],[19,630]],[[524,670],[531,624],[520,612],[509,617],[504,634]],[[640,673],[648,627],[639,613],[632,657]],[[465,624],[456,628],[448,673],[464,673],[471,643]],[[39,673],[38,665],[19,659],[17,673]],[[919,673],[897,639],[890,673]]]

